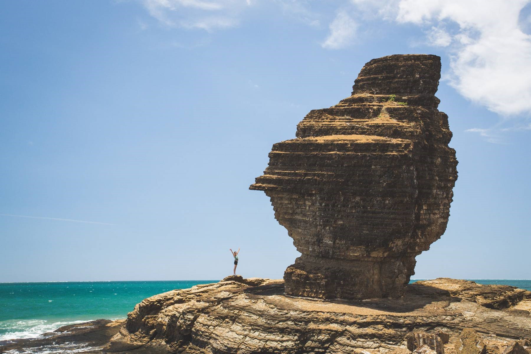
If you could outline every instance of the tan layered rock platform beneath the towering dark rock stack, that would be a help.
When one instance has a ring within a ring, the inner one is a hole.
[[[527,341],[515,344],[525,338],[531,292],[514,287],[440,278],[395,299],[318,300],[285,295],[282,280],[232,276],[143,300],[105,351],[528,354]]]

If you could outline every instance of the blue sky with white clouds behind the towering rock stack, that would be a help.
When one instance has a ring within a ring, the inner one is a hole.
[[[478,5],[481,4],[481,5]],[[442,58],[459,178],[413,278],[531,278],[529,1],[0,4],[0,282],[281,278],[247,188],[363,64]]]

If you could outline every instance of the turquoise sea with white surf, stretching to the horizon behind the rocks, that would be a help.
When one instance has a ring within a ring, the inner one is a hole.
[[[531,290],[531,280],[470,280]],[[0,283],[0,342],[34,338],[67,324],[125,318],[147,297],[213,282],[217,280]]]

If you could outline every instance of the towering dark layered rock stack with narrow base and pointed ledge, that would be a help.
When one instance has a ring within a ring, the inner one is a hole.
[[[457,179],[448,117],[434,96],[435,55],[365,64],[352,96],[312,110],[297,139],[273,145],[250,189],[271,198],[297,250],[286,293],[396,297],[415,257],[446,230]]]

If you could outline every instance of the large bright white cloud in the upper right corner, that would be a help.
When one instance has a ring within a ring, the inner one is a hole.
[[[436,24],[428,38],[450,47],[450,84],[464,97],[503,116],[531,112],[531,36],[521,31],[529,0],[401,0],[397,21]],[[450,33],[439,25],[457,24]],[[435,31],[433,30],[435,29]]]

